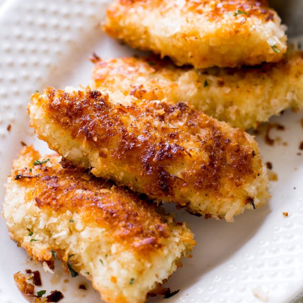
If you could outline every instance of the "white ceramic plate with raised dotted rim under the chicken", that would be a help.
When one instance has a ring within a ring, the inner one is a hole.
[[[21,141],[39,142],[28,127],[26,104],[31,93],[44,86],[64,88],[90,82],[92,52],[100,57],[133,55],[134,51],[99,30],[106,2],[102,0],[10,0],[0,10],[0,200],[3,184]],[[188,221],[197,246],[193,258],[171,277],[167,286],[180,292],[170,299],[156,297],[149,302],[259,302],[252,290],[261,288],[269,302],[287,302],[303,289],[303,141],[302,113],[286,112],[271,122],[285,131],[274,146],[257,137],[264,161],[273,164],[279,180],[271,183],[267,206],[247,211],[234,223],[204,220],[177,211]],[[11,130],[7,127],[11,125]],[[284,143],[286,142],[286,143]],[[168,209],[175,211],[173,206]],[[285,218],[282,212],[288,212]],[[0,302],[26,302],[13,274],[26,268],[39,269],[22,248],[8,237],[0,221]],[[68,279],[69,282],[64,282]],[[61,290],[60,302],[101,302],[89,282],[71,278],[58,263],[55,276],[43,274],[39,289]],[[85,283],[87,290],[78,289]]]

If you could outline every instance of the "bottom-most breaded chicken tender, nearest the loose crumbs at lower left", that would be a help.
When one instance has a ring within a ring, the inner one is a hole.
[[[195,245],[193,234],[125,187],[25,147],[6,185],[11,238],[36,261],[61,259],[106,302],[144,302]]]

